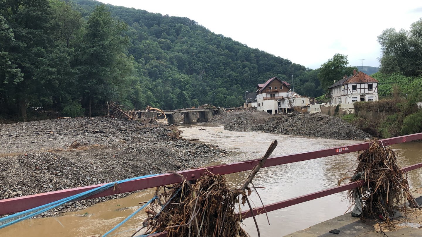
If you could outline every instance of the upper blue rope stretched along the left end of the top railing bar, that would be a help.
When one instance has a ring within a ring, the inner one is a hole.
[[[158,174],[156,174],[156,175],[158,175]],[[69,202],[76,202],[76,201],[82,200],[82,199],[87,198],[89,196],[92,196],[94,194],[100,193],[100,192],[102,192],[106,189],[109,189],[116,184],[132,181],[132,180],[137,180],[137,179],[141,179],[141,178],[148,178],[148,177],[151,177],[151,176],[155,176],[155,175],[144,175],[144,176],[140,176],[140,177],[129,178],[129,179],[125,179],[125,180],[119,180],[119,181],[116,181],[116,182],[113,182],[113,183],[107,183],[107,184],[100,186],[100,187],[97,187],[95,189],[84,191],[82,193],[75,194],[73,196],[66,197],[66,198],[63,198],[63,199],[60,199],[60,200],[57,200],[57,201],[54,201],[54,202],[50,202],[48,204],[45,204],[45,205],[42,205],[42,206],[39,206],[39,207],[35,207],[35,208],[30,209],[30,210],[25,210],[25,211],[22,211],[20,213],[15,213],[13,215],[9,215],[9,216],[0,218],[0,224],[1,224],[0,229],[4,228],[6,226],[10,226],[12,224],[18,223],[19,221],[29,219],[31,217],[34,217],[35,215],[39,215],[43,212],[51,210],[51,209],[58,207],[60,205],[63,205],[63,204],[69,203]]]

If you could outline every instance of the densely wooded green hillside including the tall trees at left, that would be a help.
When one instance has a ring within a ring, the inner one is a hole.
[[[317,70],[216,35],[194,20],[97,1],[0,0],[0,111],[102,115],[106,102],[233,107],[277,76],[322,94]],[[269,35],[262,35],[269,37]]]

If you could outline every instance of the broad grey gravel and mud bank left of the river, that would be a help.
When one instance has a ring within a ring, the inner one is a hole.
[[[0,199],[185,170],[227,154],[213,145],[178,139],[175,127],[111,117],[0,127]],[[45,215],[127,195],[83,200]]]

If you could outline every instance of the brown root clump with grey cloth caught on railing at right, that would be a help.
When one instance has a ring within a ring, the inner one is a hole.
[[[365,180],[365,185],[352,190],[349,197],[353,200],[354,192],[361,197],[362,219],[388,220],[395,207],[402,207],[405,200],[411,207],[419,207],[411,194],[407,175],[398,166],[397,155],[380,143],[371,141],[370,148],[359,155],[354,172],[355,179]]]

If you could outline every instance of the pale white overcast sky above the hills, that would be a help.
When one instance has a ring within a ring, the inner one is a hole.
[[[100,0],[170,16],[185,16],[216,34],[309,68],[334,54],[349,65],[379,67],[377,36],[409,29],[422,17],[417,0]]]

